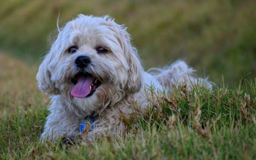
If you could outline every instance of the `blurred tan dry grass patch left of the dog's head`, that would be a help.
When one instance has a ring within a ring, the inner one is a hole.
[[[24,108],[36,105],[41,99],[47,102],[47,96],[42,95],[36,85],[35,74],[37,66],[27,66],[24,62],[0,53],[0,104],[2,111],[13,111],[17,105]]]

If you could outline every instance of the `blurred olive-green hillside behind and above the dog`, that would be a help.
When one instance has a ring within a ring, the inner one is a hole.
[[[183,59],[219,84],[256,73],[255,0],[2,0],[0,49],[38,64],[60,26],[85,15],[125,23],[145,68]],[[49,36],[50,35],[50,36]]]

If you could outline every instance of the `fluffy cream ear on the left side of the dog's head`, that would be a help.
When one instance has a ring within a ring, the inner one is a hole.
[[[38,87],[42,92],[49,95],[56,95],[59,94],[59,90],[55,88],[54,83],[51,81],[51,73],[48,69],[51,59],[52,56],[50,53],[44,57],[44,61],[38,69],[36,79],[38,80]]]

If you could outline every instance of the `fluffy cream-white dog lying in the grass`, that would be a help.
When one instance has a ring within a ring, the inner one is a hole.
[[[126,28],[109,16],[79,15],[59,30],[37,74],[39,88],[51,97],[42,138],[76,136],[82,125],[90,126],[89,139],[117,134],[125,128],[119,116],[132,113],[134,101],[147,107],[143,92],[151,84],[159,90],[181,81],[211,87],[191,76],[194,70],[183,61],[157,69],[157,74],[143,71],[130,39]]]

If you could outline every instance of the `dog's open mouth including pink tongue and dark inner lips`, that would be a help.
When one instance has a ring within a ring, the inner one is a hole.
[[[77,98],[84,98],[93,95],[96,88],[102,84],[98,79],[90,74],[76,74],[71,81],[75,86],[71,90],[71,95]]]

